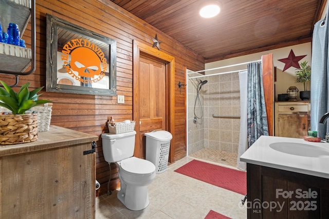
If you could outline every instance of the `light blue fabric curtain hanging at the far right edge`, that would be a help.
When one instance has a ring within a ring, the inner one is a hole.
[[[328,16],[327,10],[327,15]],[[318,21],[314,25],[313,42],[312,42],[312,74],[310,80],[311,95],[310,105],[310,128],[313,131],[318,131],[318,137],[324,138],[329,132],[329,121],[325,124],[320,124],[321,116],[329,112],[328,103],[328,30],[329,24],[326,18]]]

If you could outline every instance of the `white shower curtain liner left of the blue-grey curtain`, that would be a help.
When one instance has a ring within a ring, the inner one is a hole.
[[[240,83],[240,137],[239,148],[237,149],[237,168],[246,170],[246,162],[240,161],[240,156],[247,150],[248,132],[247,132],[247,71],[239,72]]]

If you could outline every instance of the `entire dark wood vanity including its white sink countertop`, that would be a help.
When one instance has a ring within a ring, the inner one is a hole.
[[[329,218],[328,143],[262,135],[247,163],[248,218]]]

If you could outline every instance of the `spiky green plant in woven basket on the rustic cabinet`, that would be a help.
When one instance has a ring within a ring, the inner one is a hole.
[[[30,83],[24,84],[19,92],[15,92],[5,82],[0,81],[0,106],[11,112],[0,115],[0,145],[13,145],[34,142],[38,139],[37,114],[28,113],[32,107],[49,103],[46,99],[38,99],[43,87],[29,91]]]

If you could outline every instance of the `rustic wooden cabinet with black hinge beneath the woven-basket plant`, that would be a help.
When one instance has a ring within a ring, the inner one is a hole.
[[[51,125],[0,147],[0,218],[95,218],[98,136]]]

